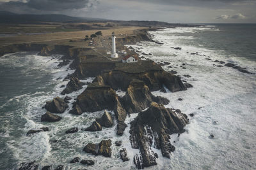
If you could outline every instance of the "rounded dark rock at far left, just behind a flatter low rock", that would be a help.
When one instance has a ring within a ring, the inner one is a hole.
[[[55,97],[52,101],[47,101],[44,107],[51,113],[63,113],[68,108],[68,104],[60,97]]]

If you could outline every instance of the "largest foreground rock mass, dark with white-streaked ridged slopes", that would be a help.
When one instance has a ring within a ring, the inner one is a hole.
[[[170,134],[181,133],[189,120],[183,113],[164,108],[163,104],[151,103],[148,110],[139,113],[131,122],[130,141],[132,148],[140,148],[141,155],[134,155],[139,169],[156,165],[158,155],[152,147],[160,149],[164,157],[170,158],[175,147],[170,143]]]

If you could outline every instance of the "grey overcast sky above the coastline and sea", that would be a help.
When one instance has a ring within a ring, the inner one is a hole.
[[[256,23],[256,0],[0,0],[1,11],[171,23]]]

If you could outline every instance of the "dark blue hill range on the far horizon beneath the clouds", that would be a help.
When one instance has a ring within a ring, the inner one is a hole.
[[[88,18],[88,17],[70,17],[68,15],[58,14],[17,14],[8,11],[0,11],[1,24],[15,24],[15,23],[35,23],[35,22],[88,22],[93,20],[105,20],[102,18]]]

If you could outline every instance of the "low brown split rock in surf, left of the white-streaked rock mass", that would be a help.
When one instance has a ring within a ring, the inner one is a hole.
[[[92,153],[93,155],[103,155],[104,157],[111,157],[111,140],[102,140],[99,144],[88,143],[84,147],[84,152]]]

